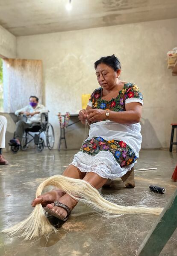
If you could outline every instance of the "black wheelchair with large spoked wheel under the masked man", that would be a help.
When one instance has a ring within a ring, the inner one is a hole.
[[[27,116],[23,116],[26,117]],[[31,132],[35,132],[35,135],[33,136]],[[45,145],[44,139],[41,137],[41,133],[44,132],[45,139],[47,145]],[[26,150],[28,148],[29,143],[34,140],[35,146],[37,151],[41,152],[44,147],[47,147],[49,150],[51,150],[54,146],[55,142],[55,134],[53,130],[53,126],[48,122],[48,113],[41,113],[41,122],[34,123],[34,126],[32,128],[27,128],[24,132],[24,135],[21,140],[21,145],[11,144],[11,151],[16,153],[20,149]]]

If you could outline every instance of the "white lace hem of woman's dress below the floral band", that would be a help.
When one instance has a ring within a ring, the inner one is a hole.
[[[70,165],[74,165],[81,172],[94,172],[102,178],[113,180],[124,176],[135,163],[121,167],[109,151],[100,151],[97,155],[88,155],[79,151],[74,155]]]

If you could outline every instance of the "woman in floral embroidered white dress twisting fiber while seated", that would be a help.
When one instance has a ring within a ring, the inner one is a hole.
[[[100,58],[94,67],[100,87],[79,113],[80,121],[90,124],[89,137],[63,175],[100,189],[107,179],[124,176],[139,157],[143,97],[134,83],[119,80],[121,64],[115,55]],[[32,206],[40,203],[65,221],[78,201],[53,189],[35,198]]]

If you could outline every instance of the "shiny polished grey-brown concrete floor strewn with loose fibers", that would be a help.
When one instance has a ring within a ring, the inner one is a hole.
[[[38,184],[62,171],[76,151],[44,150],[4,153],[9,165],[0,166],[0,230],[25,219],[32,211],[30,205]],[[164,207],[177,189],[171,174],[177,164],[177,153],[167,150],[142,150],[135,169],[158,168],[135,172],[135,189],[127,189],[121,179],[111,188],[100,189],[109,200],[122,205],[144,204]],[[148,186],[164,187],[164,195],[149,192]],[[6,256],[131,256],[150,232],[158,217],[153,215],[122,215],[107,218],[79,203],[58,235],[46,241],[23,241],[0,234],[0,255]],[[162,250],[161,256],[177,255],[177,230]]]

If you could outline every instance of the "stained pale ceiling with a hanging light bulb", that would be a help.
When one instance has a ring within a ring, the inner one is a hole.
[[[177,0],[0,0],[0,25],[15,36],[177,18]]]

